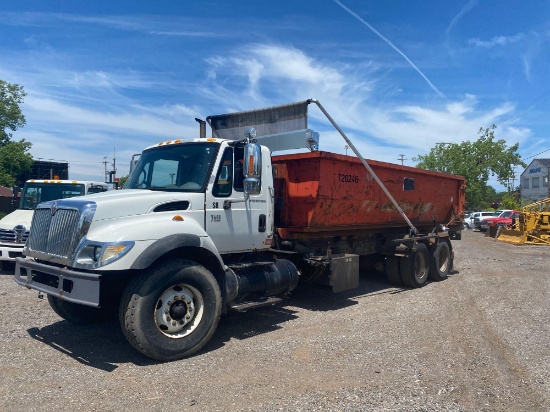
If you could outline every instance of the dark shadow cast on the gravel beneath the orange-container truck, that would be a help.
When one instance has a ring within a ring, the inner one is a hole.
[[[333,293],[326,286],[302,285],[278,305],[223,315],[216,333],[197,355],[216,351],[232,339],[245,340],[284,328],[284,323],[299,318],[296,308],[333,311],[357,305],[359,298],[368,298],[381,293],[407,292],[411,290],[391,286],[386,277],[379,273],[363,274],[357,289],[338,294]],[[48,345],[65,356],[106,372],[116,370],[119,364],[133,363],[137,366],[147,366],[160,363],[133,349],[126,341],[117,321],[74,325],[63,320],[43,328],[30,328],[27,332],[36,341]]]

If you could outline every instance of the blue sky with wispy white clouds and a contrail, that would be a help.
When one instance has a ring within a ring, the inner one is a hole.
[[[413,165],[491,124],[527,163],[550,157],[548,0],[0,0],[0,16],[0,79],[28,93],[15,138],[73,179],[113,157],[127,174],[144,147],[198,137],[195,117],[308,98],[370,159]],[[310,127],[345,153],[313,106]]]

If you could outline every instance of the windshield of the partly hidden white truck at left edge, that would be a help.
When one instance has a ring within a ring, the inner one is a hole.
[[[25,183],[21,194],[21,209],[34,210],[41,202],[67,199],[86,194],[83,184],[77,183]]]

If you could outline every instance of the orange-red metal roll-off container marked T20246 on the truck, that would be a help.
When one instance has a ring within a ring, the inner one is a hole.
[[[460,230],[465,180],[461,176],[367,160],[411,222]],[[273,156],[275,223],[285,237],[299,232],[373,232],[406,227],[361,161],[330,152]]]

